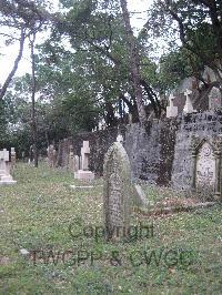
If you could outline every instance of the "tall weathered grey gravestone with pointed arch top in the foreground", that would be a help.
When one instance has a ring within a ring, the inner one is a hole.
[[[130,224],[131,171],[128,154],[120,142],[114,142],[104,157],[103,207],[108,232]]]

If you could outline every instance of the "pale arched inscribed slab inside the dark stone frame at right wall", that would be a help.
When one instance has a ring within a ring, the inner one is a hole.
[[[196,189],[210,193],[215,185],[215,157],[209,142],[204,142],[199,150],[196,159]]]

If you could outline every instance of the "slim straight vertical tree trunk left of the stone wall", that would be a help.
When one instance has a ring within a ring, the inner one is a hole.
[[[37,90],[37,81],[36,81],[36,61],[34,61],[34,41],[36,41],[36,32],[32,33],[32,38],[30,37],[31,64],[32,64],[32,67],[31,67],[31,69],[32,69],[31,126],[32,126],[34,166],[38,167],[37,118],[36,118],[36,90]]]

